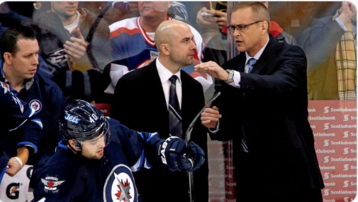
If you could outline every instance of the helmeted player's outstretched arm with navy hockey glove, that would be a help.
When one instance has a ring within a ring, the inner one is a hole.
[[[116,135],[123,143],[123,152],[133,172],[151,166],[171,171],[194,172],[204,162],[205,153],[195,143],[187,148],[186,142],[178,137],[164,140],[157,133],[139,133],[121,124],[118,124],[117,129]],[[192,158],[188,158],[186,153]]]

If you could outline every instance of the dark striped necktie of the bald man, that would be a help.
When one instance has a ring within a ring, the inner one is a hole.
[[[182,127],[181,127],[181,116],[180,116],[180,106],[177,96],[177,76],[173,75],[169,78],[170,89],[169,89],[169,136],[182,136]]]

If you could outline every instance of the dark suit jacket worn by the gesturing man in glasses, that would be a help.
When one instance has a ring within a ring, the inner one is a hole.
[[[244,73],[245,61],[241,53],[223,65],[240,71],[241,88],[223,84],[223,118],[218,133],[211,134],[221,141],[233,139],[237,198],[257,200],[323,188],[308,123],[303,50],[270,36],[250,74]],[[248,154],[241,152],[242,131]]]

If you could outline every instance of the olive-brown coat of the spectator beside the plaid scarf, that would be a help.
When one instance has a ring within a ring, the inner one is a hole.
[[[302,32],[298,44],[308,59],[309,100],[339,100],[335,53],[344,34],[332,16],[313,20]]]

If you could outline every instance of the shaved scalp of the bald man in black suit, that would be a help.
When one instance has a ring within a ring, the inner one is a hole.
[[[177,20],[165,20],[160,23],[155,31],[155,45],[157,46],[158,51],[160,51],[161,44],[171,44],[172,39],[177,37],[177,30],[180,28],[190,30],[188,25]]]

